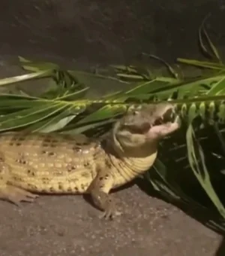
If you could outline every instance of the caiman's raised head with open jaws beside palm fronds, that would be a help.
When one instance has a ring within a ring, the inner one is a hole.
[[[132,156],[157,151],[160,139],[178,130],[178,115],[169,103],[142,105],[124,114],[113,127],[113,148]]]

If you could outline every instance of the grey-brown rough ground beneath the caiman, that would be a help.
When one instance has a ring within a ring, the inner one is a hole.
[[[44,196],[22,209],[1,202],[0,255],[220,255],[220,236],[179,209],[136,185],[116,194],[124,215],[110,222],[82,196]]]

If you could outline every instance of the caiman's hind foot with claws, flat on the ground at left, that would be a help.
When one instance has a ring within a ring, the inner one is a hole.
[[[20,202],[34,202],[38,196],[36,194],[31,194],[30,192],[23,190],[19,187],[7,186],[4,190],[0,191],[0,197],[20,206]]]

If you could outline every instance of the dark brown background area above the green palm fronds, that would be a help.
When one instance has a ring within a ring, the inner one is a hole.
[[[224,45],[224,0],[1,0],[1,54],[67,58],[78,66],[132,62],[140,53],[169,62],[200,56],[197,33]]]

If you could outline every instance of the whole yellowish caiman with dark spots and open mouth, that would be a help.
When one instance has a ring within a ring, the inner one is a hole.
[[[128,110],[104,139],[62,133],[0,136],[0,198],[20,206],[37,194],[89,194],[104,218],[119,215],[110,190],[147,171],[160,139],[178,130],[173,105]]]

